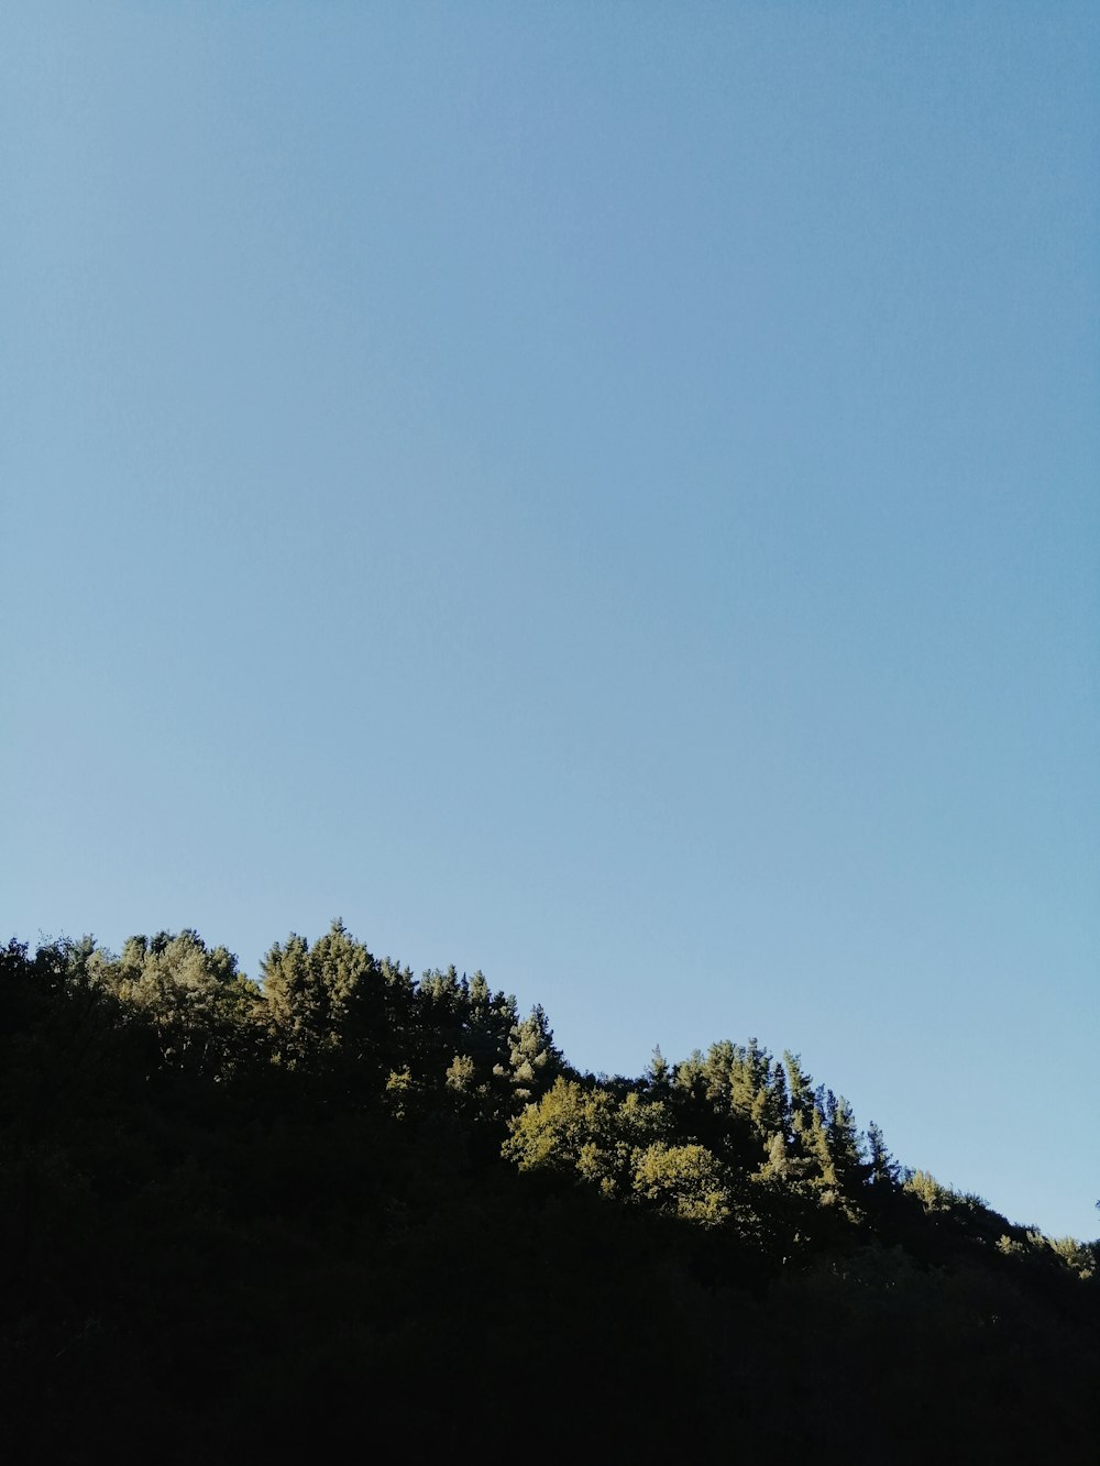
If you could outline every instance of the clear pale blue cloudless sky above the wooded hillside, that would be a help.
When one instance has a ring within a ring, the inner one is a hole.
[[[0,922],[340,915],[1096,1236],[1093,3],[15,4]]]

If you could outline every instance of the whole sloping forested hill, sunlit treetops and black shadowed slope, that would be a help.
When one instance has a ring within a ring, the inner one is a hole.
[[[754,1039],[582,1075],[339,922],[13,941],[0,1094],[13,1460],[1100,1456],[1100,1245]]]

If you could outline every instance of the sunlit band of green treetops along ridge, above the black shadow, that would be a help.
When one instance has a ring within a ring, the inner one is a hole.
[[[392,1120],[447,1113],[491,1133],[519,1171],[733,1229],[742,1242],[770,1239],[785,1256],[807,1209],[835,1239],[903,1199],[1005,1256],[1053,1256],[1082,1278],[1097,1271],[1097,1243],[1011,1224],[981,1196],[901,1165],[879,1126],[861,1132],[843,1095],[814,1083],[798,1054],[723,1039],[678,1063],[657,1048],[634,1079],[581,1073],[541,1004],[521,1016],[515,995],[480,970],[417,979],[339,919],[312,944],[295,932],[274,943],[260,982],[191,928],[131,937],[120,954],[84,937],[43,941],[31,956],[13,938],[0,973],[16,1028],[21,1001],[70,1004],[88,1029],[66,1048],[78,1061],[106,1025],[160,1070],[232,1085],[265,1067]]]

